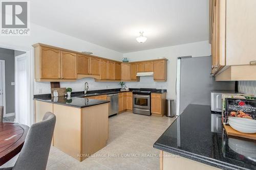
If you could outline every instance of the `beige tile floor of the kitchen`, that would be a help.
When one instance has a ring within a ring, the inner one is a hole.
[[[110,117],[105,148],[79,162],[52,147],[47,169],[159,169],[159,150],[153,144],[173,121],[130,112]]]

